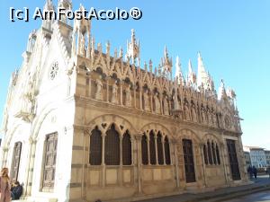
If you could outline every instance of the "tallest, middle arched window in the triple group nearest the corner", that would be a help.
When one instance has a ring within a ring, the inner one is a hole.
[[[106,132],[105,136],[105,164],[120,164],[120,139],[114,125]]]

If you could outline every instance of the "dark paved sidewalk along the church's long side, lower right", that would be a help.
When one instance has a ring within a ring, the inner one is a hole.
[[[237,198],[238,196],[243,196],[254,192],[270,189],[270,179],[268,178],[268,175],[259,176],[257,180],[252,179],[252,181],[254,181],[253,184],[239,187],[216,189],[214,191],[199,194],[181,194],[164,198],[150,198],[147,200],[140,200],[140,202],[221,201],[222,198],[224,199]]]

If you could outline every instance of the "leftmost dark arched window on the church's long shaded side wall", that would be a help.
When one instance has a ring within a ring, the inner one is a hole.
[[[89,163],[91,165],[100,165],[102,162],[103,141],[101,131],[95,127],[90,136],[90,155]]]

